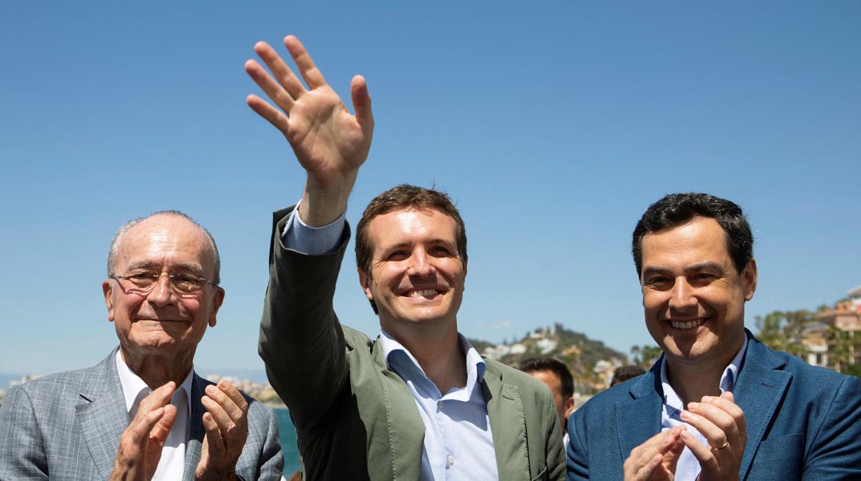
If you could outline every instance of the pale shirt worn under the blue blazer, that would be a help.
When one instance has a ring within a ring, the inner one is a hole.
[[[733,388],[735,387],[735,379],[739,378],[741,360],[744,359],[746,350],[747,340],[745,339],[745,342],[741,344],[739,352],[736,353],[732,361],[729,361],[729,366],[723,370],[720,383],[721,394],[733,391]],[[675,426],[684,426],[684,428],[687,429],[691,435],[697,438],[697,440],[703,443],[703,445],[708,445],[708,442],[705,441],[705,436],[700,434],[697,428],[694,428],[687,422],[682,421],[681,414],[682,410],[684,410],[684,404],[682,403],[682,398],[678,397],[678,394],[676,394],[675,390],[672,389],[672,385],[670,385],[670,382],[666,378],[666,355],[662,359],[663,361],[660,363],[660,383],[664,388],[664,409],[661,410],[660,413],[661,430],[666,431],[667,429],[671,429]],[[699,472],[700,466],[697,457],[694,456],[694,453],[692,453],[687,446],[685,446],[684,451],[682,451],[682,455],[678,458],[674,479],[677,481],[693,481],[694,479],[697,479]]]

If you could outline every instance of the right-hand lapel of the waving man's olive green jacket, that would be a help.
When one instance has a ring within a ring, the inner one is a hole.
[[[493,435],[493,453],[499,478],[529,478],[531,471],[526,446],[526,419],[517,386],[502,382],[502,374],[487,363],[481,389],[487,404],[487,417]]]

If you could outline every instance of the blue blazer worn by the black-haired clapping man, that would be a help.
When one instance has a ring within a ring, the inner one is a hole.
[[[749,330],[733,394],[745,412],[740,479],[861,479],[861,379],[772,351]],[[568,419],[567,479],[622,479],[635,447],[660,432],[660,360]]]

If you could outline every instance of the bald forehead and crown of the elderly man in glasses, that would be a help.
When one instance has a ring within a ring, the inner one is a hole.
[[[178,216],[159,215],[133,225],[121,239],[117,268],[188,268],[211,274],[214,252],[201,229]]]

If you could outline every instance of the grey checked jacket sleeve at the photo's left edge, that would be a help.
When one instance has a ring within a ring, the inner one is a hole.
[[[33,402],[22,385],[6,394],[0,408],[0,479],[47,479],[45,444]]]

